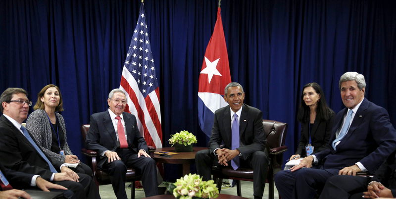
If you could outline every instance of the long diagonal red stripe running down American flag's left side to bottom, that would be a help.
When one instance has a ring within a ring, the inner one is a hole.
[[[147,144],[149,146],[155,146],[154,142],[152,141],[152,138],[151,138],[150,134],[148,133],[146,122],[145,122],[145,117],[144,117],[144,112],[143,112],[142,108],[140,107],[138,98],[136,97],[136,93],[131,88],[131,86],[129,85],[128,81],[125,79],[125,77],[122,76],[122,75],[121,75],[121,83],[120,83],[120,85],[128,93],[128,95],[130,97],[129,99],[131,99],[132,103],[135,104],[136,110],[138,112],[139,120],[140,120],[140,122],[143,125],[143,135],[145,137],[145,140],[146,140]]]

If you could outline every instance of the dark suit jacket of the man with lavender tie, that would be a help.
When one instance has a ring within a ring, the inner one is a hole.
[[[247,159],[254,151],[265,149],[266,138],[262,122],[262,112],[259,109],[243,104],[239,120],[241,146],[238,148],[243,159]],[[231,110],[229,105],[214,112],[212,135],[209,141],[210,154],[220,148],[222,142],[224,142],[224,148],[231,149]]]

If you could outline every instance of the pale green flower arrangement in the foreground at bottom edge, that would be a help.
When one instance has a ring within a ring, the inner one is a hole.
[[[213,182],[213,180],[202,181],[202,177],[190,173],[177,179],[175,183],[169,183],[167,190],[178,199],[217,198],[219,190]]]

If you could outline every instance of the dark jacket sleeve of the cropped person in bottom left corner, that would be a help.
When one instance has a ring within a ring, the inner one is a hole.
[[[14,171],[12,169],[5,168],[0,163],[0,170],[4,174],[4,177],[8,180],[9,184],[14,189],[26,189],[30,188],[30,182],[32,181],[33,175]],[[0,190],[1,187],[0,187]]]

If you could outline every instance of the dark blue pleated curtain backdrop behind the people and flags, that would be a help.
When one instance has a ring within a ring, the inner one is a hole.
[[[217,0],[145,0],[160,85],[164,146],[188,130],[198,146],[198,75],[216,20]],[[301,87],[319,83],[331,108],[343,108],[340,76],[366,78],[366,98],[396,124],[395,0],[222,0],[232,81],[265,119],[289,124],[285,158],[299,140]],[[60,87],[69,145],[81,157],[80,125],[107,108],[118,88],[140,0],[1,0],[0,92],[28,91],[33,102]]]

